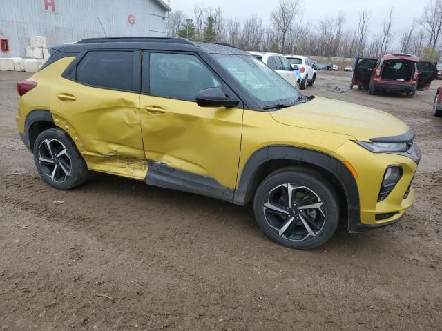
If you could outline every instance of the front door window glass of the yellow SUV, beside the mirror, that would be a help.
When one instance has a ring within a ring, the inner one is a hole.
[[[146,66],[143,68],[144,79]],[[151,53],[148,79],[150,94],[186,101],[195,101],[200,90],[222,88],[220,80],[198,57],[187,54]]]

